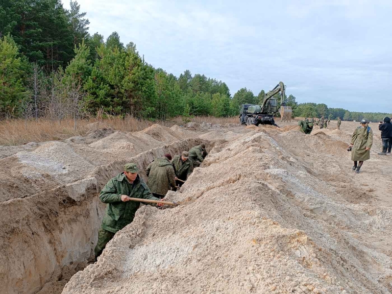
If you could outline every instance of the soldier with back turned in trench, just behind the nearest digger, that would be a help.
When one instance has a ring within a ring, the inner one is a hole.
[[[170,162],[172,155],[165,154],[163,157],[154,160],[147,167],[146,173],[148,176],[147,186],[153,196],[160,199],[166,196],[170,190],[170,186],[175,187],[175,172]]]

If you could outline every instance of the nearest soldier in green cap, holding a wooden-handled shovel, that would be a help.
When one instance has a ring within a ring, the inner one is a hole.
[[[99,194],[99,200],[106,204],[105,216],[98,231],[98,243],[94,249],[97,257],[115,233],[133,221],[140,202],[129,198],[160,200],[152,196],[145,181],[138,175],[135,163],[127,163],[124,172],[111,178]]]

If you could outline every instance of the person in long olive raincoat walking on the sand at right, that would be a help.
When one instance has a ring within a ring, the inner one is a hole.
[[[368,120],[363,119],[361,125],[354,130],[351,138],[351,160],[354,161],[352,170],[359,173],[365,160],[370,159],[370,148],[373,145],[373,131],[368,126]]]

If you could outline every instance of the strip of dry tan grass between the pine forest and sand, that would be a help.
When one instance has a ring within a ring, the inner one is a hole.
[[[195,117],[191,119],[195,123],[238,123],[238,118],[215,118],[215,117]],[[91,125],[94,123],[94,125]],[[48,119],[31,120],[25,122],[24,120],[5,120],[0,121],[0,145],[16,146],[23,145],[29,142],[45,142],[53,140],[64,140],[73,136],[85,135],[92,127],[110,127],[119,131],[141,131],[154,123],[159,123],[168,127],[174,124],[184,124],[180,117],[174,118],[171,121],[165,122],[150,122],[144,120],[136,120],[134,118],[121,119],[118,117],[111,117],[104,120],[96,118],[89,120],[79,120],[77,122],[77,129],[73,129],[73,120],[63,120],[61,124],[58,122],[52,123]]]

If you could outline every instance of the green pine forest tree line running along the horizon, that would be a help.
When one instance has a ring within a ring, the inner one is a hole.
[[[178,77],[155,69],[132,42],[117,32],[106,40],[88,33],[80,5],[60,0],[0,1],[0,118],[78,118],[104,113],[149,120],[175,116],[228,117],[244,103],[261,104],[242,88],[233,96],[227,85],[189,70]],[[294,116],[381,120],[386,114],[349,112],[325,104],[285,97]]]

